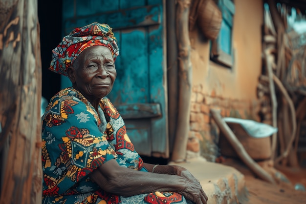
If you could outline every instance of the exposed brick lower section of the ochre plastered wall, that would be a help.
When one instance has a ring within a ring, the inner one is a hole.
[[[187,158],[202,156],[213,162],[219,156],[219,128],[210,116],[211,108],[219,109],[222,117],[256,120],[260,105],[258,102],[222,98],[215,91],[204,94],[201,84],[194,85]]]

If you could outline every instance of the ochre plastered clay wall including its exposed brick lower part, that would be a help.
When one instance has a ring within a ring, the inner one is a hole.
[[[218,157],[219,128],[210,116],[217,108],[223,117],[259,121],[258,78],[262,70],[262,0],[235,0],[233,66],[210,61],[210,40],[199,29],[190,32],[192,98],[188,157]]]

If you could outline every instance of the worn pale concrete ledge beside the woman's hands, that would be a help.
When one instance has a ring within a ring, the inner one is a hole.
[[[241,204],[248,200],[244,175],[234,167],[207,162],[203,158],[169,164],[188,169],[200,181],[208,196],[207,204]]]

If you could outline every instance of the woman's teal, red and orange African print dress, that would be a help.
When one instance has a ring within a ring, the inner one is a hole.
[[[111,159],[147,171],[108,98],[101,100],[97,113],[80,92],[63,89],[51,99],[42,122],[43,204],[187,203],[173,192],[113,195],[89,179],[90,172]]]

